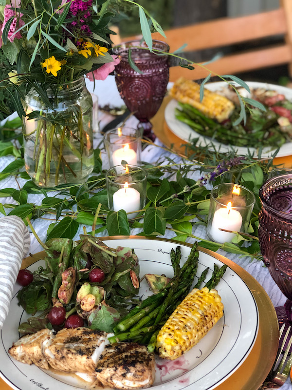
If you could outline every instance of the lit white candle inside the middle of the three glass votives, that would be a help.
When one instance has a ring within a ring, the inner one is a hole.
[[[116,191],[112,195],[113,210],[125,210],[126,213],[131,211],[140,210],[140,193],[135,188],[128,187],[128,183],[125,183],[125,187]],[[134,218],[139,213],[133,213],[128,215],[128,219]]]

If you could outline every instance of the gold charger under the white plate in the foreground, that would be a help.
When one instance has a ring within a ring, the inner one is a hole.
[[[147,239],[142,236],[111,236],[101,237],[103,241],[111,239]],[[151,238],[154,239],[154,238]],[[182,245],[182,242],[159,238],[161,241],[171,241]],[[183,245],[191,247],[191,244]],[[238,266],[226,257],[214,253],[208,249],[199,248],[201,252],[213,256],[224,264],[227,264],[246,283],[252,292],[259,312],[259,330],[256,342],[246,360],[238,369],[223,383],[216,387],[216,390],[257,390],[271,370],[278,348],[278,321],[274,306],[262,286],[247,271]],[[27,257],[23,260],[21,268],[26,268],[37,260],[43,258],[45,252],[39,252],[34,257]],[[0,389],[11,390],[12,388],[0,378]]]

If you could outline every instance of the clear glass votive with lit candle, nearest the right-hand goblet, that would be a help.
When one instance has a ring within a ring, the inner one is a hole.
[[[236,234],[219,229],[246,233],[255,202],[255,195],[243,186],[234,183],[215,186],[211,190],[208,237],[223,244],[231,242]]]

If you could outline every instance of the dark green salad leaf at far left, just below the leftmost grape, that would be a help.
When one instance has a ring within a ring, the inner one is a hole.
[[[51,307],[52,285],[43,281],[33,282],[19,290],[18,306],[29,314],[45,311]]]

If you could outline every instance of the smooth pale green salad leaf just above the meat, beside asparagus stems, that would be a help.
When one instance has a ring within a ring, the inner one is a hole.
[[[88,317],[90,329],[112,332],[116,321],[120,319],[120,314],[114,308],[102,303]]]

